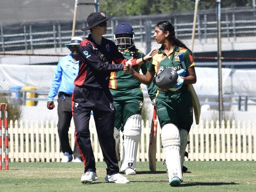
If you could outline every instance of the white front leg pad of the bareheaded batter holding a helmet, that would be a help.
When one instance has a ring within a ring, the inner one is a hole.
[[[167,165],[169,182],[173,177],[178,177],[182,181],[182,169],[180,163],[180,134],[178,127],[174,124],[166,124],[162,127],[161,140],[165,161]]]

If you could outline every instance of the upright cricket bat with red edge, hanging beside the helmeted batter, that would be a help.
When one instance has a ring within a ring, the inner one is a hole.
[[[150,171],[156,171],[156,134],[157,134],[157,120],[156,107],[154,107],[153,117],[151,122],[149,146],[148,146],[148,163]]]

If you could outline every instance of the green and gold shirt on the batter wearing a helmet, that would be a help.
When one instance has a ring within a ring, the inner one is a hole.
[[[130,49],[119,50],[119,52],[121,52],[126,59],[131,59],[134,57],[141,58],[145,56],[145,54],[143,54],[143,52],[141,52],[138,49],[135,49],[134,51],[131,51]],[[135,56],[133,57],[134,54]],[[135,66],[134,70],[139,73],[139,70],[141,69],[142,73],[146,74],[147,67],[148,67],[148,63],[143,63],[142,65]],[[123,71],[111,72],[110,74],[110,79],[109,79],[110,90],[126,91],[126,90],[140,88],[140,85],[141,83],[137,81],[137,79],[135,79],[131,74],[126,74]],[[148,89],[148,95],[150,99],[153,100],[156,97],[156,85],[154,85],[154,83],[151,83],[150,85],[147,86],[147,89]]]

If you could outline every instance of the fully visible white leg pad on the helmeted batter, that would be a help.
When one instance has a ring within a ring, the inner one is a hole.
[[[124,125],[121,171],[125,171],[127,168],[135,170],[139,137],[141,135],[141,120],[141,115],[132,115]]]

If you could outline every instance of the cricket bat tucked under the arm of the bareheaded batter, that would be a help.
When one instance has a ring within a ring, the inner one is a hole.
[[[182,53],[178,53],[178,56],[180,58],[180,62],[182,64],[182,67],[184,70],[187,69],[185,63],[184,63],[184,58],[182,56]],[[195,114],[195,120],[196,120],[196,124],[199,124],[199,120],[200,120],[200,113],[201,113],[201,107],[200,107],[200,102],[198,100],[197,97],[197,93],[195,92],[195,89],[193,87],[192,84],[188,84],[188,89],[191,93],[192,96],[192,103],[193,103],[193,109],[194,109],[194,114]]]

